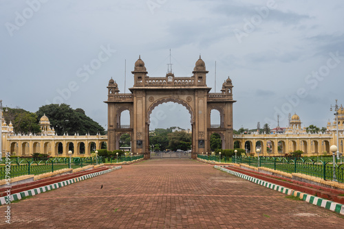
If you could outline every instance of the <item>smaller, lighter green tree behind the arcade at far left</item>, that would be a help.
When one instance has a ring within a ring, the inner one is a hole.
[[[38,134],[41,132],[39,119],[36,114],[21,108],[8,108],[8,112],[3,113],[7,123],[12,122],[16,134]]]

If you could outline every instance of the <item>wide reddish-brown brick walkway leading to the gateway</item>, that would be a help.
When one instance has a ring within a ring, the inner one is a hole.
[[[103,189],[100,186],[103,184]],[[6,225],[0,207],[0,228]],[[343,228],[344,217],[195,160],[146,160],[11,204],[7,228]],[[7,225],[6,225],[7,226]]]

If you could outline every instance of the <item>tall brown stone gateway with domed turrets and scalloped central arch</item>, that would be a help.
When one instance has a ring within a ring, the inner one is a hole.
[[[109,150],[119,149],[120,136],[131,136],[133,154],[144,154],[150,158],[149,124],[152,110],[165,102],[182,104],[189,110],[192,127],[192,158],[202,152],[210,152],[210,136],[218,133],[222,137],[222,148],[233,148],[233,85],[228,79],[222,85],[221,93],[209,93],[206,86],[206,64],[197,60],[191,77],[175,77],[172,71],[165,77],[149,77],[144,62],[135,63],[134,85],[131,93],[119,93],[118,85],[109,80],[108,99],[108,143]],[[220,113],[220,125],[211,125],[211,110]],[[130,125],[121,125],[120,115],[129,110]]]

